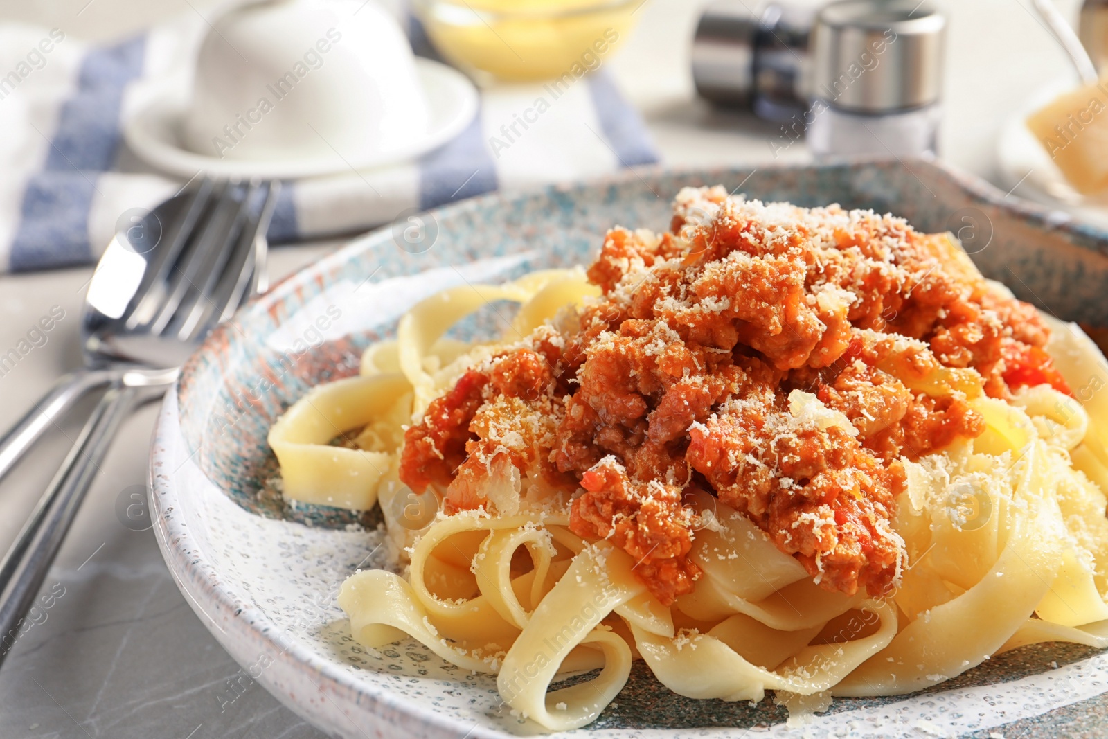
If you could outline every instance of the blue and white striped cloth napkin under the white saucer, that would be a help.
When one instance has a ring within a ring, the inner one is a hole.
[[[181,187],[127,150],[121,122],[191,64],[206,28],[194,16],[93,47],[61,29],[0,25],[0,271],[95,261],[121,214]],[[562,94],[526,136],[506,147],[491,141],[504,142],[501,126],[540,88],[483,90],[473,123],[418,162],[286,183],[270,239],[352,233],[412,207],[656,161],[642,119],[603,69]]]

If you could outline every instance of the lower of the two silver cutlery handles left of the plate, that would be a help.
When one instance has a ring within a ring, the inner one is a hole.
[[[101,398],[61,469],[0,562],[0,664],[8,656],[81,501],[138,390],[116,380]]]

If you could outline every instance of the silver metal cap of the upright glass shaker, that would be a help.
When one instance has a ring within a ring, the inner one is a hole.
[[[926,0],[842,0],[812,30],[812,94],[856,113],[930,105],[943,85],[946,19]]]

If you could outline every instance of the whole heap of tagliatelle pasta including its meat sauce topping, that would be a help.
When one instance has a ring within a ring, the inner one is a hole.
[[[495,300],[500,340],[444,338]],[[355,639],[568,730],[635,659],[694,699],[823,706],[1108,646],[1106,383],[947,235],[704,188],[587,274],[423,300],[269,440],[286,497],[379,503],[407,564],[343,584]]]

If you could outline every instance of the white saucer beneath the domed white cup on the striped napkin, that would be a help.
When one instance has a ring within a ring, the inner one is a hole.
[[[420,141],[371,156],[330,156],[288,160],[244,161],[205,156],[184,147],[181,122],[188,96],[181,90],[163,90],[152,95],[125,124],[123,135],[135,154],[148,164],[183,177],[198,172],[222,177],[295,179],[355,170],[368,170],[411,160],[447,143],[473,120],[478,92],[456,70],[428,59],[416,60],[416,72],[427,95],[429,123]],[[307,133],[310,130],[306,129]]]

